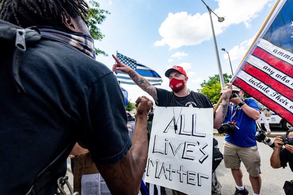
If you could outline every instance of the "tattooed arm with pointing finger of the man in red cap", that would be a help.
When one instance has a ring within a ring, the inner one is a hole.
[[[154,100],[158,100],[157,89],[154,87],[154,85],[152,85],[147,79],[136,73],[132,68],[120,62],[113,54],[112,56],[117,62],[113,65],[113,72],[117,74],[117,70],[121,70],[122,72],[127,73],[136,85],[138,85],[142,90],[152,96]]]

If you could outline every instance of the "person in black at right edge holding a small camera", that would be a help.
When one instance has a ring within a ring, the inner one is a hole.
[[[293,138],[293,128],[286,132],[286,138],[276,137],[274,141],[275,149],[271,156],[271,166],[274,169],[285,168],[289,163],[289,167],[293,172],[293,139],[290,139]],[[285,145],[285,148],[282,148],[283,145]]]

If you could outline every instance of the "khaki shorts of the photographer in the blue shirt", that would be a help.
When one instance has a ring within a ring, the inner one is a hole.
[[[259,176],[260,156],[257,146],[240,147],[224,140],[223,156],[225,167],[229,169],[240,169],[240,163],[243,162],[247,172],[253,176]]]

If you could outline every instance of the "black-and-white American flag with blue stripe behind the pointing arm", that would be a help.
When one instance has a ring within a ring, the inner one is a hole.
[[[128,58],[120,53],[117,53],[116,58],[120,60],[120,62],[135,70],[139,75],[146,78],[152,85],[161,85],[163,81],[162,77],[160,77],[160,75],[156,73],[156,71],[154,71],[152,68],[149,68],[139,63],[138,61]],[[136,85],[127,73],[123,73],[121,70],[117,70],[117,73],[118,74],[116,75],[116,77],[117,80],[120,81],[120,83]]]

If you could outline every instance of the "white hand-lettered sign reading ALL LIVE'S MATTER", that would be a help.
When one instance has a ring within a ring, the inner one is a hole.
[[[212,108],[156,107],[144,181],[186,194],[211,194],[212,147]]]

